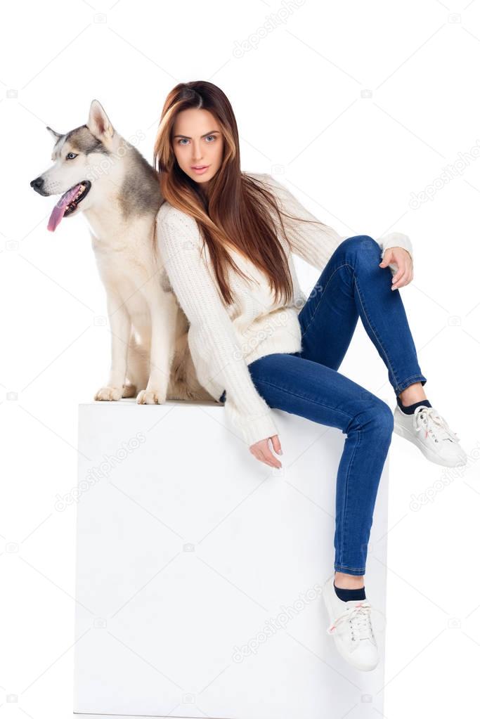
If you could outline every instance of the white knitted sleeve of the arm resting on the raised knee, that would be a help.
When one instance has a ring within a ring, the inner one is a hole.
[[[280,201],[280,209],[284,209],[288,214],[295,215],[302,219],[316,220],[318,218],[311,214],[294,195],[285,186],[282,185],[272,175],[262,175],[264,182],[274,191],[275,196]],[[290,219],[284,219],[287,237],[290,241],[292,252],[302,257],[320,272],[327,264],[333,252],[339,244],[347,239],[349,235],[341,237],[334,229],[326,224],[311,224],[310,222],[299,222]],[[389,247],[403,247],[413,257],[412,243],[410,237],[402,232],[390,232],[379,239],[376,238],[382,249],[382,260],[384,253]],[[397,269],[394,262],[389,265],[392,273]]]

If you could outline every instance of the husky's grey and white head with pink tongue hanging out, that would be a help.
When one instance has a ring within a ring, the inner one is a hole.
[[[62,193],[48,221],[48,229],[53,232],[63,217],[92,206],[96,183],[106,174],[119,135],[98,100],[91,103],[87,124],[66,134],[51,127],[47,130],[55,138],[54,164],[32,180],[30,186],[43,196]]]

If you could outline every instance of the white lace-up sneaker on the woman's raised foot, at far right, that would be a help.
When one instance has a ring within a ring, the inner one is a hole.
[[[406,414],[397,404],[393,418],[394,432],[416,444],[430,462],[444,467],[466,464],[467,455],[458,442],[458,434],[435,408],[420,405],[413,414]]]

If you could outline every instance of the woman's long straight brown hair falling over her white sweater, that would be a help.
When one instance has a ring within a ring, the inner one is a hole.
[[[198,183],[180,169],[172,149],[173,125],[177,114],[189,108],[205,109],[216,117],[223,134],[223,162],[208,183],[206,195]],[[287,255],[275,232],[272,209],[282,234],[283,212],[274,194],[240,170],[239,133],[229,99],[213,83],[179,83],[167,96],[154,144],[154,167],[160,173],[160,191],[165,201],[192,216],[208,250],[218,288],[227,304],[234,301],[226,281],[226,265],[246,277],[229,255],[233,247],[267,276],[275,302],[292,298],[292,278]],[[300,219],[300,218],[296,218]],[[308,221],[308,220],[305,220]],[[321,224],[321,223],[320,223]]]

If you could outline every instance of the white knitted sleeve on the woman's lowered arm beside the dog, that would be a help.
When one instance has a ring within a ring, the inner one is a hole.
[[[193,363],[226,390],[226,415],[251,446],[278,431],[271,408],[251,379],[221,293],[201,255],[202,242],[193,217],[166,203],[160,207],[157,243],[172,290],[190,321]]]

